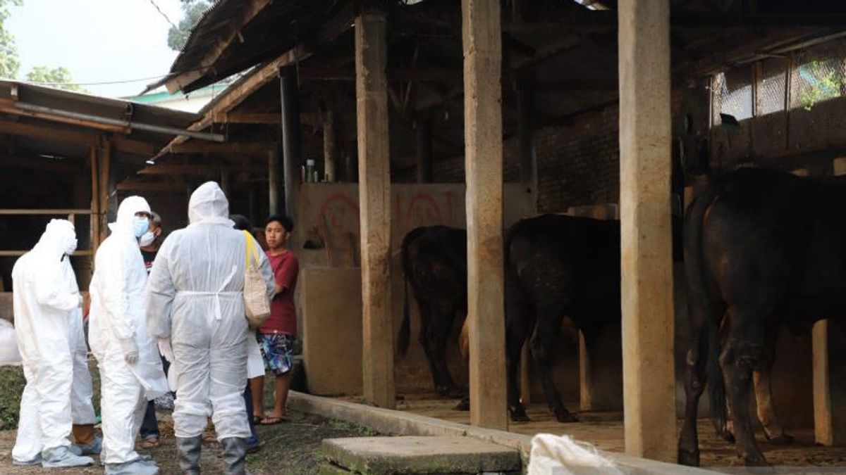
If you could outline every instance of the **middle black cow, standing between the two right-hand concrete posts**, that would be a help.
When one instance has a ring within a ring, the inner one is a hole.
[[[567,316],[589,344],[620,321],[620,224],[545,215],[514,224],[505,242],[508,412],[529,420],[519,399],[520,349],[526,338],[544,394],[560,422],[573,422],[552,378],[553,348]]]

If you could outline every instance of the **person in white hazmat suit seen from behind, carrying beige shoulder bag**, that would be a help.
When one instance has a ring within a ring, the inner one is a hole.
[[[190,225],[162,243],[147,287],[147,329],[172,362],[173,426],[185,473],[200,472],[202,433],[210,415],[228,473],[245,472],[250,437],[242,398],[247,382],[247,237],[233,229],[228,216],[229,203],[217,183],[197,188],[188,204]],[[258,254],[270,298],[272,270],[264,253]]]

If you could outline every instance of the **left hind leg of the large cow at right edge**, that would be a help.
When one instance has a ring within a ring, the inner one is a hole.
[[[708,357],[706,319],[703,308],[691,308],[691,344],[684,358],[684,423],[678,437],[678,463],[699,467],[699,434],[696,429],[699,399],[705,390]]]

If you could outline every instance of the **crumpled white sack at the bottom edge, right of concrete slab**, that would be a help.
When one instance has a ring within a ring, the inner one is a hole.
[[[537,434],[531,440],[528,475],[623,475],[613,461],[599,455],[593,445],[567,435]]]

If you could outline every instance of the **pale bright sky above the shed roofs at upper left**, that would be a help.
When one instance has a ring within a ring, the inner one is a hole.
[[[135,96],[167,74],[177,52],[168,47],[170,24],[182,18],[179,0],[24,0],[11,8],[8,30],[20,57],[18,79],[33,66],[70,70],[96,96]]]

